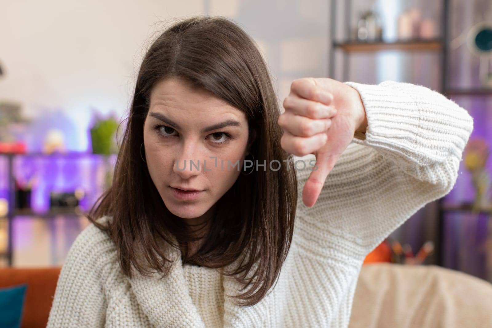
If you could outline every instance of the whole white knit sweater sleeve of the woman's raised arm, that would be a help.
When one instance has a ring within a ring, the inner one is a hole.
[[[453,188],[473,119],[420,85],[345,83],[361,95],[367,131],[354,135],[311,208],[301,196],[311,167],[297,170],[297,239],[318,247],[319,254],[333,251],[328,240],[341,239],[351,245],[342,255],[362,260],[417,210]]]

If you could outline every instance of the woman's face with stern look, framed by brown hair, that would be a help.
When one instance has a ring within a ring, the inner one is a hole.
[[[240,174],[233,165],[248,153],[246,115],[181,78],[160,81],[150,97],[144,123],[150,176],[173,214],[200,223]]]

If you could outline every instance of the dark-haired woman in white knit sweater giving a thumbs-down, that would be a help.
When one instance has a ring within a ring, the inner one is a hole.
[[[164,31],[48,327],[346,327],[365,256],[451,190],[473,120],[393,81],[299,79],[283,107],[234,23]]]

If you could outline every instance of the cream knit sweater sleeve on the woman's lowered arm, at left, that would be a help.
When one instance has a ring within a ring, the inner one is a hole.
[[[58,278],[48,328],[104,327],[104,277],[111,248],[108,236],[93,224],[77,236]]]

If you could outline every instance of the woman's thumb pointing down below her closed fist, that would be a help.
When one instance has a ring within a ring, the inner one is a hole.
[[[311,207],[316,203],[325,184],[326,177],[328,177],[339,157],[339,154],[329,153],[316,156],[316,164],[303,189],[303,202],[307,207]]]

